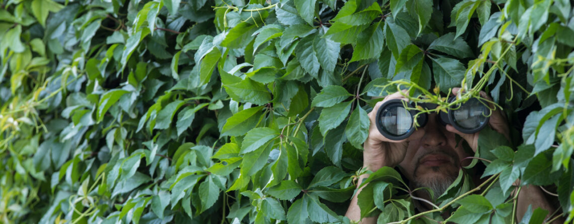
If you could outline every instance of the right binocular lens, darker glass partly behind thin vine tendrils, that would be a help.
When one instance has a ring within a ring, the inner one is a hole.
[[[488,107],[484,106],[478,99],[472,98],[460,105],[459,109],[452,110],[452,121],[454,126],[459,126],[465,130],[482,129],[488,122],[487,115],[490,114]]]

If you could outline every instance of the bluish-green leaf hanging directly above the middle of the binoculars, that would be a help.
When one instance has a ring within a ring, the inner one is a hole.
[[[459,60],[440,57],[432,59],[432,71],[435,74],[435,82],[440,90],[447,92],[449,88],[459,87],[464,79],[466,68]],[[438,80],[437,80],[438,78]]]

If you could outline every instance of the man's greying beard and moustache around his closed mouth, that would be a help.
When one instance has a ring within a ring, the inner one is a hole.
[[[424,158],[426,155],[436,153],[447,155],[448,157],[451,158],[453,164],[430,167],[429,172],[432,172],[435,175],[419,176],[418,169],[420,168],[421,159]],[[433,200],[439,198],[440,195],[443,195],[444,192],[447,191],[448,187],[451,186],[452,182],[456,180],[456,177],[458,176],[459,173],[457,169],[459,167],[459,164],[460,164],[459,157],[452,150],[447,149],[429,150],[428,153],[425,153],[424,155],[418,157],[417,165],[413,172],[414,185],[417,188],[426,187],[432,190],[435,196]]]

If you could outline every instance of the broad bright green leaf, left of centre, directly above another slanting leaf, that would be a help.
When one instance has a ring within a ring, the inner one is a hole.
[[[250,78],[245,78],[239,83],[224,85],[226,90],[234,92],[234,94],[241,97],[241,99],[235,99],[239,102],[250,102],[256,105],[265,105],[271,101],[271,94],[267,90],[264,84],[255,82]]]

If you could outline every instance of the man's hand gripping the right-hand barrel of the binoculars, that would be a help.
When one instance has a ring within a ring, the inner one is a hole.
[[[457,95],[460,91],[460,88],[452,88],[452,94]],[[482,96],[483,98],[488,99],[489,101],[492,101],[492,98],[490,98],[490,96],[488,96],[486,94],[486,92],[484,91],[480,91],[480,96]],[[508,127],[508,123],[506,122],[506,117],[503,113],[501,113],[501,110],[496,109],[494,105],[492,105],[492,103],[488,103],[488,107],[490,107],[492,110],[492,114],[490,115],[490,119],[488,120],[488,125],[490,126],[490,128],[492,128],[492,130],[497,131],[498,133],[503,134],[507,140],[510,141],[510,136],[509,136],[509,127]],[[453,127],[452,125],[447,125],[447,130],[449,132],[452,133],[456,133],[458,134],[460,137],[462,137],[464,140],[466,140],[468,142],[468,145],[470,146],[470,148],[476,152],[476,149],[478,148],[478,136],[480,134],[480,132],[477,133],[472,133],[472,134],[465,134],[462,132],[459,132],[458,130],[455,129],[455,127]]]

